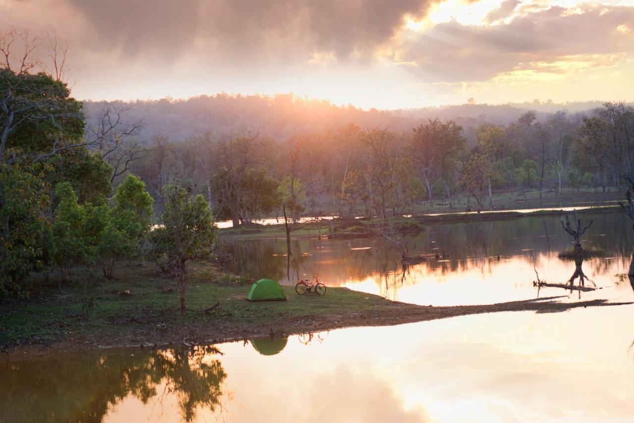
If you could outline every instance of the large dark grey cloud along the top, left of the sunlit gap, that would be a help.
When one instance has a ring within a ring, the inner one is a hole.
[[[169,60],[191,44],[243,57],[334,51],[367,54],[387,41],[403,15],[429,0],[67,0],[94,33],[91,48]],[[306,51],[311,50],[311,51]]]

